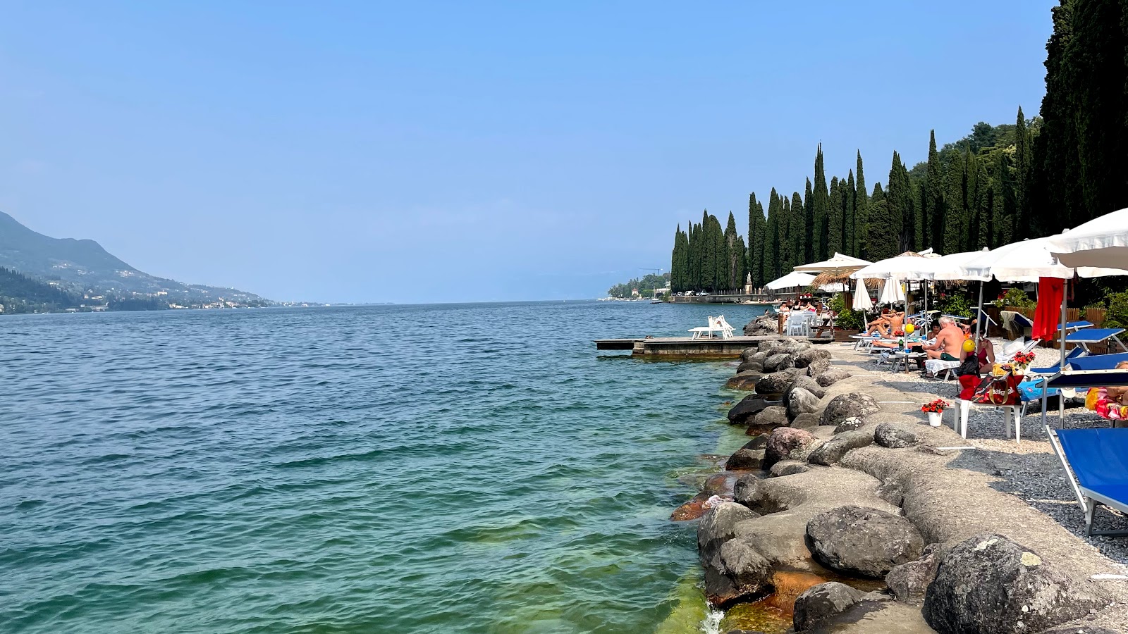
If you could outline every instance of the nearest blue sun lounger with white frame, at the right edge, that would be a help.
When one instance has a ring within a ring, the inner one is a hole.
[[[1093,530],[1093,513],[1100,504],[1128,513],[1128,429],[1052,430],[1047,425],[1046,433],[1085,513],[1085,535],[1128,535],[1128,530]]]

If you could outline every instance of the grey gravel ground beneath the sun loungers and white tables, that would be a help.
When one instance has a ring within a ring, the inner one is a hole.
[[[995,350],[1002,350],[1004,340],[993,340]],[[926,378],[923,372],[892,372],[890,366],[879,364],[878,354],[854,352],[849,346],[834,351],[835,358],[855,363],[869,371],[875,380],[905,393],[906,400],[927,403],[937,396],[953,400],[959,393],[959,384],[952,380]],[[1060,358],[1057,350],[1034,349],[1032,367],[1051,366]],[[856,372],[857,373],[857,372]],[[952,424],[953,412],[945,412],[944,424]],[[1050,400],[1048,422],[1057,426],[1057,404]],[[1079,398],[1067,400],[1065,429],[1108,428],[1109,421],[1084,408]],[[1046,438],[1040,408],[1031,404],[1031,411],[1022,421],[1022,442],[1008,439],[1002,410],[975,406],[968,417],[967,444],[987,452],[996,475],[999,491],[1024,500],[1038,511],[1046,513],[1067,530],[1084,539],[1110,560],[1121,564],[1128,573],[1128,537],[1085,537],[1085,519],[1073,488],[1065,476],[1061,463]],[[1128,530],[1128,517],[1118,511],[1099,508],[1095,526],[1105,530]]]

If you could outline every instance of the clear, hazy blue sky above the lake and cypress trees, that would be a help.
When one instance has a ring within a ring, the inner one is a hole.
[[[0,0],[0,211],[275,300],[601,297],[1045,93],[1052,0]]]

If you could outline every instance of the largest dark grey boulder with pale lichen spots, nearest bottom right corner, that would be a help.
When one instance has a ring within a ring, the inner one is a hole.
[[[941,556],[924,597],[940,634],[1041,632],[1104,601],[1002,535],[979,534]]]

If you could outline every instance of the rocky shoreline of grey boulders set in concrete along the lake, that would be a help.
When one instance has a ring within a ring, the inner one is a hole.
[[[764,341],[728,382],[751,438],[673,514],[700,518],[713,607],[774,599],[796,633],[1128,634],[1128,582],[1094,578],[1122,566],[839,347]]]

